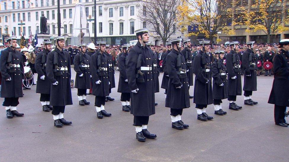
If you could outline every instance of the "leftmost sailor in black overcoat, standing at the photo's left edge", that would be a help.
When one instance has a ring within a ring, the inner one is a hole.
[[[16,36],[6,37],[8,47],[1,51],[0,70],[1,80],[1,97],[4,98],[7,118],[13,116],[22,117],[24,114],[17,112],[19,97],[23,97],[22,79],[24,78],[23,59],[21,53],[16,50]]]

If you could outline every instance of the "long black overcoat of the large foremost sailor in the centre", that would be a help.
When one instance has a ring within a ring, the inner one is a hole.
[[[152,50],[147,45],[141,47],[140,42],[137,42],[129,50],[127,56],[126,76],[129,81],[129,88],[131,91],[139,89],[137,93],[131,93],[131,114],[134,116],[150,116],[155,114],[155,84],[152,71],[142,71],[144,75],[139,75],[139,78],[136,78],[139,54],[142,54],[141,66],[150,68],[153,66]]]

